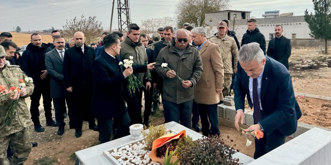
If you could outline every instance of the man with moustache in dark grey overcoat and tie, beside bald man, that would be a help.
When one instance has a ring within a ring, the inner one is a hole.
[[[45,64],[48,75],[51,77],[51,97],[53,98],[53,105],[55,110],[56,124],[59,126],[58,135],[64,134],[64,113],[66,108],[66,87],[63,76],[63,59],[67,48],[65,48],[66,40],[64,36],[57,35],[53,37],[53,44],[55,48],[45,54]],[[70,104],[70,103],[69,103]],[[69,112],[69,127],[74,128],[73,114]]]

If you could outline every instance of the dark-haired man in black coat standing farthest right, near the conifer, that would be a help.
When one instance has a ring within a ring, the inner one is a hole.
[[[284,37],[283,26],[275,26],[276,37],[269,41],[267,55],[282,63],[289,70],[289,57],[291,56],[291,40]]]

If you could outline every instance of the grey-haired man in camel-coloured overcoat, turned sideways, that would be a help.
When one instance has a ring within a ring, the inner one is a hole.
[[[203,27],[196,27],[192,30],[192,40],[200,50],[204,72],[201,79],[194,88],[194,101],[198,103],[202,135],[219,135],[217,104],[223,100],[222,90],[224,88],[224,69],[219,47],[206,38],[206,30]],[[193,109],[194,111],[194,109]],[[192,111],[192,124],[194,113]],[[209,121],[208,121],[209,119]],[[198,116],[199,121],[199,116]],[[211,125],[211,128],[209,128]]]

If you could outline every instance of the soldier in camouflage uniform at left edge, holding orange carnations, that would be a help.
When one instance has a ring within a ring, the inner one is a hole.
[[[25,79],[27,76],[23,73],[18,65],[6,64],[6,57],[3,46],[0,46],[0,84],[6,85],[9,89],[10,86],[19,86],[20,79]],[[10,162],[7,158],[8,144],[14,149],[14,159],[11,164],[22,165],[27,159],[32,144],[30,143],[30,136],[27,130],[29,126],[30,117],[25,98],[30,96],[33,92],[34,84],[27,83],[21,89],[19,95],[10,97],[9,95],[0,97],[0,164],[9,165]],[[6,115],[11,103],[18,100],[17,110],[14,111],[13,118],[9,125],[1,127],[3,124],[3,117]]]

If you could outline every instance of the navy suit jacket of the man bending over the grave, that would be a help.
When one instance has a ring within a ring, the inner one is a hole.
[[[264,132],[270,134],[278,130],[284,136],[289,136],[297,130],[298,119],[302,113],[294,96],[290,73],[284,65],[265,56],[266,62],[261,82],[261,121]],[[249,76],[237,65],[234,101],[236,110],[245,108],[245,97],[250,107],[253,107],[249,97]],[[256,124],[257,122],[254,121]]]

